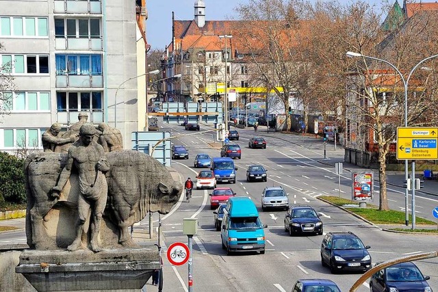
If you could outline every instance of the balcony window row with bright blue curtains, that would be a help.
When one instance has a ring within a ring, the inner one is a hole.
[[[55,55],[56,75],[102,75],[101,55]]]

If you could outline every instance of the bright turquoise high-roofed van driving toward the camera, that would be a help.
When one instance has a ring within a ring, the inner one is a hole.
[[[222,219],[220,240],[227,255],[232,252],[265,253],[265,231],[268,227],[261,224],[259,212],[248,197],[233,197],[227,202]]]

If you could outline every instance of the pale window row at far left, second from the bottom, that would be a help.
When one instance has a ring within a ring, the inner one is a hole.
[[[50,111],[50,92],[3,92],[9,111]]]

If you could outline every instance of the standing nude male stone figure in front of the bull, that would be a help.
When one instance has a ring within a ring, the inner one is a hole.
[[[75,241],[68,245],[68,250],[77,250],[81,246],[83,224],[85,224],[88,212],[91,209],[90,218],[90,248],[94,252],[100,252],[99,230],[102,214],[107,201],[107,181],[105,174],[110,170],[110,165],[105,159],[105,152],[101,145],[92,140],[96,129],[92,124],[83,124],[79,129],[79,140],[68,148],[68,160],[60,174],[57,185],[52,188],[53,196],[60,196],[62,188],[70,177],[71,170],[75,166],[79,174],[79,190],[81,195],[77,202],[78,221],[76,224]]]

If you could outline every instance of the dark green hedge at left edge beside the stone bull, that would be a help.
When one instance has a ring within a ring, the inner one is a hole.
[[[0,207],[26,202],[25,159],[0,152]]]

